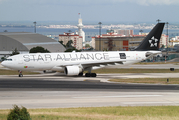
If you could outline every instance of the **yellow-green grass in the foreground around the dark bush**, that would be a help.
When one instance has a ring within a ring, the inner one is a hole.
[[[0,110],[6,120],[9,110]],[[178,120],[179,106],[29,109],[32,120]]]

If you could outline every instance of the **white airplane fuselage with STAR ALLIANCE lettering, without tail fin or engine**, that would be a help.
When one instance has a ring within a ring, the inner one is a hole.
[[[101,64],[107,62],[122,62],[125,65],[137,63],[146,58],[146,51],[35,53],[11,56],[1,64],[21,71],[63,71],[66,66],[83,66],[85,68],[85,66],[91,65],[94,69],[100,68]]]

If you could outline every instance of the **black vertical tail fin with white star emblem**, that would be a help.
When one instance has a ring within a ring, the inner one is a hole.
[[[144,38],[135,51],[158,50],[160,37],[165,23],[158,23],[150,33]]]

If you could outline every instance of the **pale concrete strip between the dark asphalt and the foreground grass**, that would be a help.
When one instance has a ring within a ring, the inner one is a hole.
[[[1,91],[0,97],[1,109],[179,105],[178,91]]]

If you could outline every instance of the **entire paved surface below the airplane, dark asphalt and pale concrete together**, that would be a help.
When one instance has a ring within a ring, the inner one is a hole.
[[[12,108],[13,104],[27,108],[179,105],[179,85],[107,82],[121,76],[128,74],[99,74],[97,78],[1,76],[0,109]]]

